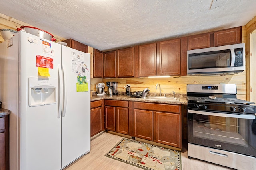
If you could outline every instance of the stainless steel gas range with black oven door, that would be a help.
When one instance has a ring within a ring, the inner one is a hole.
[[[236,84],[188,84],[188,158],[256,169],[256,106]]]

